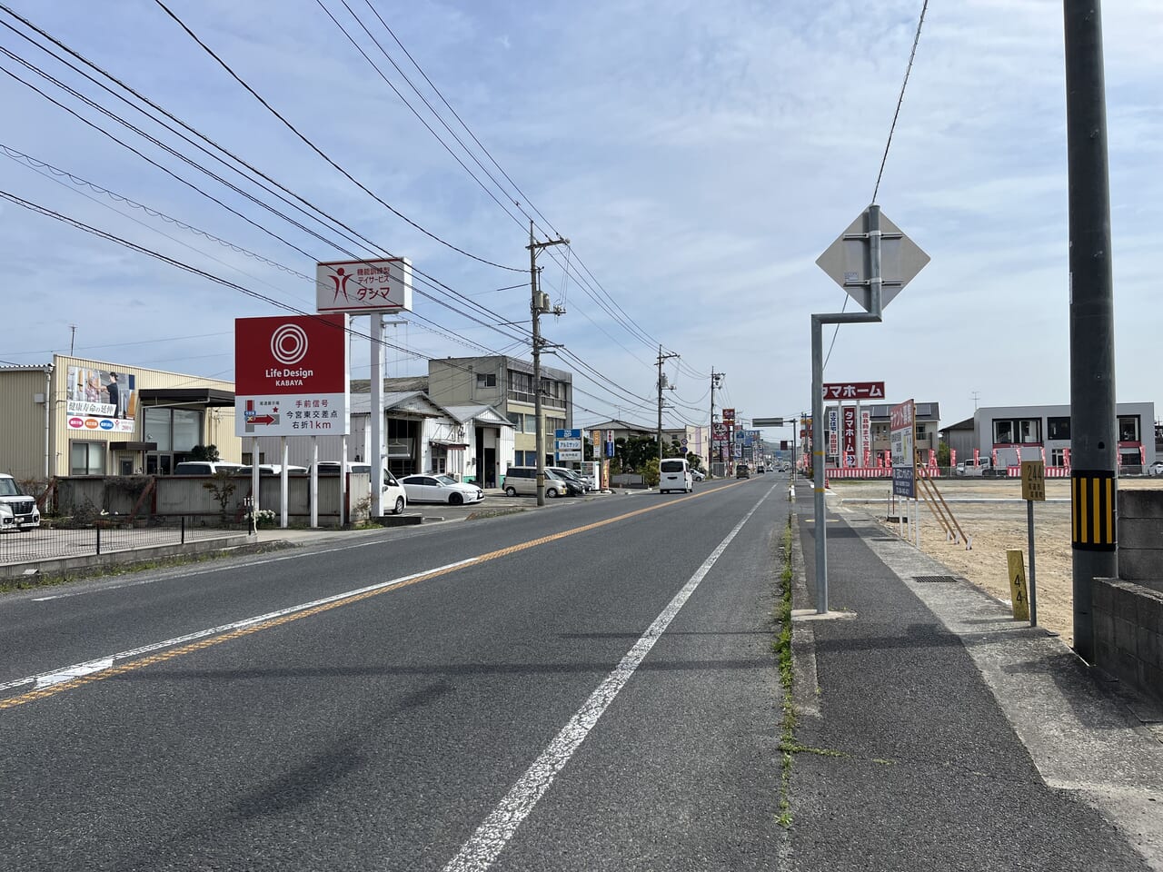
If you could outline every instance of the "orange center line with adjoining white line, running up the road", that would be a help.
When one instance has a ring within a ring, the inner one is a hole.
[[[722,487],[734,487],[733,483],[729,485],[720,486],[714,488],[714,491],[720,491]],[[645,508],[635,509],[634,512],[627,512],[626,514],[618,515],[615,517],[606,519],[605,521],[594,521],[593,523],[585,524],[583,527],[575,527],[570,530],[562,530],[561,533],[554,533],[549,536],[540,536],[535,539],[529,539],[528,542],[521,542],[516,545],[508,545],[507,548],[499,548],[495,551],[488,551],[487,553],[480,555],[479,557],[470,558],[466,562],[458,563],[455,566],[448,566],[440,570],[434,570],[431,572],[426,572],[419,576],[412,576],[407,579],[398,581],[394,585],[385,585],[384,587],[377,587],[374,591],[364,591],[362,593],[351,594],[350,596],[344,596],[343,599],[333,600],[331,602],[326,602],[321,606],[313,606],[311,608],[305,608],[301,612],[294,612],[288,615],[280,615],[279,617],[272,617],[269,621],[262,621],[261,623],[250,624],[248,627],[242,627],[236,630],[229,630],[219,636],[208,636],[197,642],[191,642],[178,648],[171,648],[167,651],[162,651],[156,655],[149,655],[147,657],[140,657],[134,660],[126,660],[124,663],[110,666],[108,669],[100,670],[98,672],[91,672],[86,676],[78,676],[77,678],[69,679],[66,681],[60,681],[58,684],[49,685],[48,687],[40,687],[35,691],[28,691],[26,693],[19,694],[16,696],[8,696],[7,699],[0,700],[0,710],[7,708],[15,708],[16,706],[23,706],[27,702],[36,702],[37,700],[48,699],[49,696],[55,696],[58,693],[64,693],[65,691],[72,691],[77,687],[84,687],[85,685],[93,684],[95,681],[104,681],[108,678],[116,678],[117,676],[123,676],[128,672],[135,672],[137,670],[144,669],[147,666],[152,666],[158,663],[165,663],[166,660],[172,660],[177,657],[181,657],[187,653],[194,653],[195,651],[204,651],[207,648],[213,648],[214,645],[220,645],[223,642],[230,642],[233,639],[242,638],[249,636],[259,630],[267,630],[273,627],[281,627],[284,624],[291,623],[292,621],[298,621],[302,617],[311,617],[313,615],[320,615],[324,612],[330,612],[333,608],[338,608],[340,606],[348,606],[352,602],[359,602],[361,600],[370,599],[371,596],[377,596],[381,593],[387,593],[388,591],[399,591],[401,587],[408,587],[409,585],[418,584],[420,581],[427,581],[440,576],[447,576],[451,572],[459,572],[470,566],[478,566],[483,563],[490,560],[495,560],[499,557],[507,557],[509,555],[519,553],[520,551],[526,551],[530,548],[536,548],[538,545],[544,545],[550,542],[557,542],[558,539],[566,538],[569,536],[576,536],[579,533],[588,533],[590,530],[597,530],[602,527],[607,527],[612,523],[618,523],[619,521],[625,521],[629,517],[636,517],[637,515],[644,515],[648,512],[655,512],[657,509],[668,508],[675,506],[678,502],[685,500],[693,500],[699,496],[705,496],[713,491],[701,491],[697,494],[690,494],[688,496],[680,496],[677,500],[668,500],[664,503],[657,506],[647,506]]]

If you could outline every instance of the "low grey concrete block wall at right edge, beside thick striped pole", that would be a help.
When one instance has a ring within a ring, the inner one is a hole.
[[[1163,593],[1135,581],[1096,578],[1091,616],[1094,665],[1163,705]]]

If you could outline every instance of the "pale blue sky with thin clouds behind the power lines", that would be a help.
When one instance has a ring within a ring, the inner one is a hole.
[[[566,309],[543,319],[547,339],[566,349],[544,362],[576,373],[578,424],[652,421],[659,343],[682,356],[664,364],[675,386],[668,423],[706,423],[712,367],[726,373],[716,405],[745,417],[809,406],[809,315],[839,312],[846,299],[815,259],[871,201],[921,10],[920,0],[348,0],[349,8],[342,0],[166,0],[315,146],[424,233],[297,138],[154,0],[10,5],[297,195],[409,257],[429,277],[418,285],[429,296],[418,295],[408,323],[388,328],[387,338],[411,352],[390,349],[388,374],[423,373],[428,357],[481,349],[528,356],[520,342],[529,321],[527,215],[538,238],[569,237],[569,252],[545,251],[538,264],[543,290]],[[1122,0],[1103,12],[1118,394],[1163,401],[1149,355],[1161,323],[1163,8]],[[6,13],[0,21],[30,33]],[[12,29],[0,31],[0,45],[213,164]],[[10,76],[0,77],[14,122],[0,134],[9,149],[0,153],[3,191],[300,308],[313,306],[314,290],[295,273],[313,276],[315,260],[352,250],[285,203],[279,212],[324,240],[244,200],[7,55],[0,67],[249,221]],[[37,173],[12,150],[264,259]],[[215,172],[257,191],[221,165]],[[877,195],[932,262],[882,324],[840,329],[826,380],[883,380],[892,401],[940,402],[946,422],[972,414],[975,394],[982,406],[1068,402],[1065,173],[1062,3],[933,3]],[[278,312],[10,202],[0,202],[0,217],[5,362],[67,353],[76,324],[79,356],[233,378],[234,319]],[[480,320],[511,323],[498,331],[468,320],[465,298],[491,313]],[[365,329],[366,320],[355,326]],[[366,376],[366,343],[357,342],[354,376]]]

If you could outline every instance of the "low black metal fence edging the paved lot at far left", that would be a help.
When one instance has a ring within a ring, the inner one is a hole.
[[[35,530],[0,535],[0,565],[180,545],[244,530],[244,526],[237,529],[207,527],[204,519],[185,515],[152,517],[133,523],[101,520],[84,527],[42,524]]]

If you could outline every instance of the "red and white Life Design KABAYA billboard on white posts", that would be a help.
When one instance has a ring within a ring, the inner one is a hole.
[[[350,433],[347,315],[234,322],[235,435]]]

